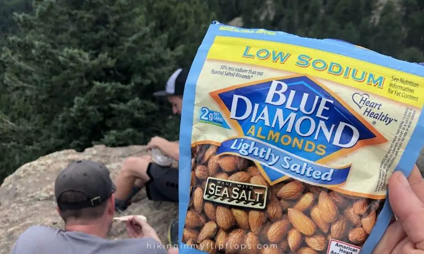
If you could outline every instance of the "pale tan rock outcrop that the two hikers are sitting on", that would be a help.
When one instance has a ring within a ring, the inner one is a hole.
[[[56,212],[54,181],[59,171],[72,160],[102,162],[109,168],[112,179],[115,179],[126,157],[146,153],[144,146],[140,145],[114,148],[96,145],[83,152],[71,149],[54,152],[21,166],[0,187],[0,254],[9,254],[19,235],[31,225],[63,228],[62,219]],[[146,216],[162,242],[167,244],[168,225],[177,218],[178,206],[150,201],[142,190],[122,215]],[[125,224],[114,224],[109,238],[125,237]]]

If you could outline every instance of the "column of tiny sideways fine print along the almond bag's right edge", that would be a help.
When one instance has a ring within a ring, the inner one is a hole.
[[[380,176],[375,191],[381,191],[385,188],[387,183],[387,175],[389,168],[393,165],[394,160],[399,156],[399,150],[403,143],[406,141],[405,137],[408,135],[411,129],[412,121],[415,118],[417,110],[413,108],[406,108],[403,113],[402,119],[400,120],[399,127],[396,130],[396,134],[390,144],[389,150],[383,157],[380,163]]]

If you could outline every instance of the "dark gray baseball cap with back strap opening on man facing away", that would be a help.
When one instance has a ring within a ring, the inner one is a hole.
[[[63,169],[55,181],[55,196],[61,210],[75,210],[95,207],[105,202],[116,190],[110,179],[110,172],[102,163],[91,160],[71,162]],[[76,203],[65,203],[61,196],[67,191],[80,192],[87,200]]]

